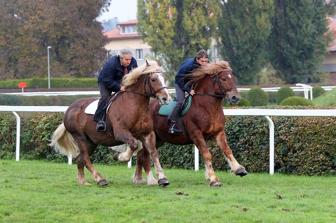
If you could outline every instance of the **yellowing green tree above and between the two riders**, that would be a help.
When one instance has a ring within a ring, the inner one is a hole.
[[[217,0],[138,0],[137,31],[175,73],[184,59],[210,47],[218,13]]]

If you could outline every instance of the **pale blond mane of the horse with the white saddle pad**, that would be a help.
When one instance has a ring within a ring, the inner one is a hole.
[[[162,70],[156,61],[148,59],[146,61],[148,62],[149,66],[147,66],[147,63],[144,63],[141,66],[133,69],[129,74],[124,75],[122,84],[125,85],[126,87],[131,86],[132,84],[135,84],[137,79],[142,74],[149,74],[154,71]]]

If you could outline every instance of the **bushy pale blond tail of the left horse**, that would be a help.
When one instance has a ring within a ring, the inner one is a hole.
[[[49,146],[54,147],[58,152],[65,155],[76,157],[79,154],[79,148],[71,134],[67,131],[64,123],[57,127],[54,132]]]

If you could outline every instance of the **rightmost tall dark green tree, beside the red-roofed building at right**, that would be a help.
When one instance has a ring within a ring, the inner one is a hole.
[[[275,0],[269,60],[287,84],[306,82],[321,65],[330,41],[325,0]]]

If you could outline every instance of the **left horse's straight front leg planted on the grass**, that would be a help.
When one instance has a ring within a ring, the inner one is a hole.
[[[155,167],[156,177],[158,178],[158,184],[159,186],[167,186],[169,185],[169,182],[167,180],[167,177],[165,176],[163,169],[161,167],[161,164],[159,162],[159,154],[158,150],[155,147],[155,134],[152,131],[150,134],[145,136],[142,140],[142,143],[145,148],[147,148]],[[148,175],[147,175],[148,177]]]

